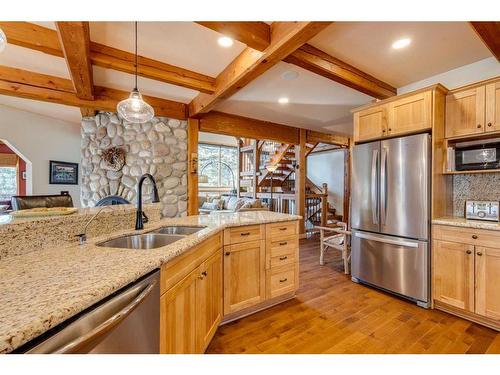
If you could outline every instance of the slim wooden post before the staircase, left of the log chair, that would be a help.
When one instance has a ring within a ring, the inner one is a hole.
[[[306,205],[306,130],[299,129],[299,143],[295,146],[295,160],[297,161],[297,171],[295,172],[295,211],[304,220],[300,221],[299,234],[305,237],[305,205]]]

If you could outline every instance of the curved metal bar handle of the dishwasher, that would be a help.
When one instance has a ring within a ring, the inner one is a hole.
[[[57,347],[55,350],[51,350],[51,353],[75,354],[85,353],[92,350],[97,344],[99,344],[106,338],[108,333],[110,333],[114,327],[123,322],[123,320],[125,320],[132,313],[132,311],[134,311],[151,294],[153,288],[157,283],[157,279],[147,281],[149,281],[149,283],[140,292],[140,294],[125,307],[123,307],[120,311],[113,314],[110,318],[106,319],[104,322],[102,322],[89,332],[85,333],[84,335],[79,336],[69,342],[62,343],[62,345]],[[140,289],[141,287],[143,287],[143,285],[139,284],[134,289]],[[119,302],[120,299],[125,299],[127,297],[127,293],[124,295],[117,295],[111,301]]]

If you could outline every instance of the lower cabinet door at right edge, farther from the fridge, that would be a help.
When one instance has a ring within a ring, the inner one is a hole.
[[[476,313],[500,320],[500,249],[476,246]]]

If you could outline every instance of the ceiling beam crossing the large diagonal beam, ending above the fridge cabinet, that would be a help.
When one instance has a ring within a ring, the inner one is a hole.
[[[224,35],[232,36],[236,40],[245,43],[251,48],[263,51],[263,41],[266,35],[271,35],[271,28],[263,22],[198,22],[212,30]],[[253,43],[259,38],[260,43]],[[269,37],[270,38],[270,37]],[[251,44],[252,43],[252,44]],[[396,95],[396,89],[375,77],[362,72],[319,49],[304,44],[297,51],[290,54],[284,61],[300,66],[313,73],[346,85],[352,89],[373,96],[377,99],[385,99]]]

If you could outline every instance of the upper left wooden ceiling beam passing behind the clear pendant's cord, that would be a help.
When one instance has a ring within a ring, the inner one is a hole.
[[[28,22],[0,22],[9,43],[53,56],[64,57],[57,32]],[[134,74],[134,54],[90,42],[90,60],[93,65]],[[139,56],[138,74],[141,77],[198,90],[215,91],[215,78]]]

